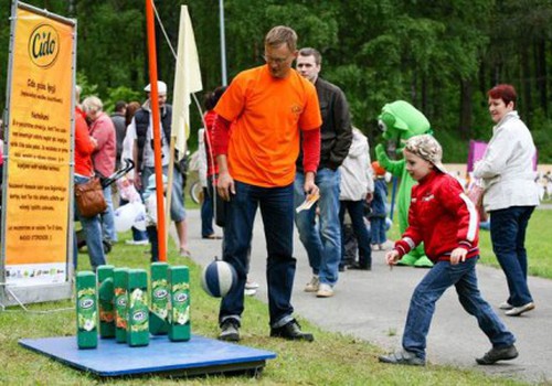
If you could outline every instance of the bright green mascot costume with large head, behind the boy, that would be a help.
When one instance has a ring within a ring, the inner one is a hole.
[[[427,118],[414,106],[404,101],[396,100],[386,104],[378,117],[378,125],[383,131],[383,139],[396,141],[396,153],[402,156],[406,140],[414,136],[432,133],[431,125]],[[401,179],[397,192],[397,214],[399,229],[401,234],[408,227],[408,207],[411,205],[412,186],[416,183],[406,172],[404,158],[392,161],[385,153],[383,144],[375,147],[378,162],[385,168],[388,172]],[[425,256],[424,245],[418,245],[399,261],[403,266],[432,267],[433,262]]]

